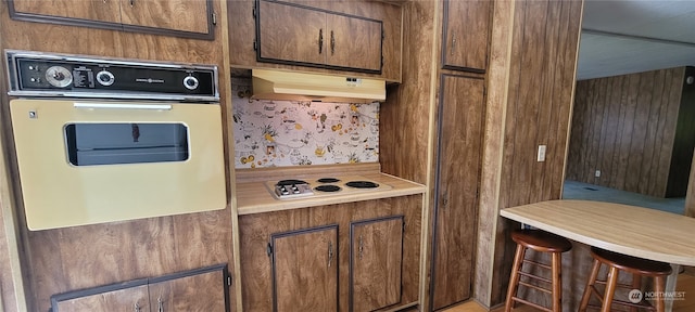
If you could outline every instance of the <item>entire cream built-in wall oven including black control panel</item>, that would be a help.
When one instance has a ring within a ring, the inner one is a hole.
[[[224,209],[217,68],[7,50],[26,224]]]

